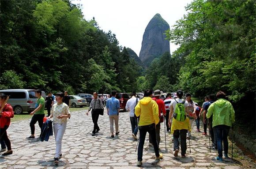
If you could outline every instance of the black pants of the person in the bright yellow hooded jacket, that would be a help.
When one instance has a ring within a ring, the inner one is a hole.
[[[156,135],[155,135],[155,124],[153,123],[153,124],[146,125],[146,126],[139,126],[138,161],[142,161],[143,146],[144,146],[147,132],[151,135],[152,143],[154,146],[155,156],[159,157],[158,144],[157,144]]]

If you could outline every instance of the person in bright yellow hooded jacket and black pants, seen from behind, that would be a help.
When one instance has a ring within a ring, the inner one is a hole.
[[[156,141],[155,125],[159,122],[158,105],[152,100],[152,90],[145,90],[144,98],[135,107],[135,115],[139,117],[139,147],[138,147],[138,166],[142,165],[143,146],[147,132],[151,135],[156,160],[163,158],[159,154],[158,143]]]

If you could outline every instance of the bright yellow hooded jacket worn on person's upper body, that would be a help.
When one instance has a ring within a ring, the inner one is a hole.
[[[135,115],[139,116],[139,126],[159,123],[158,105],[150,97],[141,99],[135,107]]]

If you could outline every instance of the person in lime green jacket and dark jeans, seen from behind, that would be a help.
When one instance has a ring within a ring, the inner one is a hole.
[[[213,114],[212,127],[217,136],[217,146],[218,146],[218,157],[219,161],[222,159],[222,141],[224,144],[224,156],[228,158],[228,134],[230,127],[232,127],[235,122],[235,111],[233,106],[229,101],[227,101],[226,94],[222,91],[218,91],[216,94],[218,98],[217,101],[212,103],[207,111],[206,117],[210,118]]]

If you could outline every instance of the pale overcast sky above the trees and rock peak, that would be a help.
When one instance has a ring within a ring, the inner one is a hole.
[[[119,44],[134,50],[139,56],[143,33],[153,16],[159,13],[173,26],[185,14],[192,0],[72,0],[82,4],[86,20],[93,17],[105,32],[116,34]],[[171,53],[177,46],[170,44]]]

